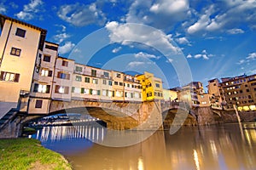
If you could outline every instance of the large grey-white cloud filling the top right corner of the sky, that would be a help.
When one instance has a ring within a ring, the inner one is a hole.
[[[196,6],[196,5],[195,5]],[[201,11],[191,9],[196,21],[187,27],[189,34],[201,32],[228,32],[230,34],[243,33],[244,31],[236,27],[256,25],[256,1],[217,1],[209,4]],[[193,19],[192,19],[193,20]]]

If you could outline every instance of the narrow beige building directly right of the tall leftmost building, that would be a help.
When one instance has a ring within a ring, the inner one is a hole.
[[[32,92],[29,99],[29,113],[48,113],[53,79],[55,74],[55,60],[58,56],[58,44],[44,43],[43,52],[38,53],[36,67],[32,81]]]

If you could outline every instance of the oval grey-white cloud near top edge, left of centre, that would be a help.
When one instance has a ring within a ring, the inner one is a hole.
[[[106,21],[105,14],[96,7],[96,3],[63,5],[58,11],[58,16],[73,26],[86,26],[93,23],[102,25]]]

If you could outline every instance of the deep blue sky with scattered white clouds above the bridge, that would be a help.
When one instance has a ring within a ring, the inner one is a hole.
[[[256,73],[255,0],[2,0],[0,14],[46,29],[62,57],[165,88]]]

